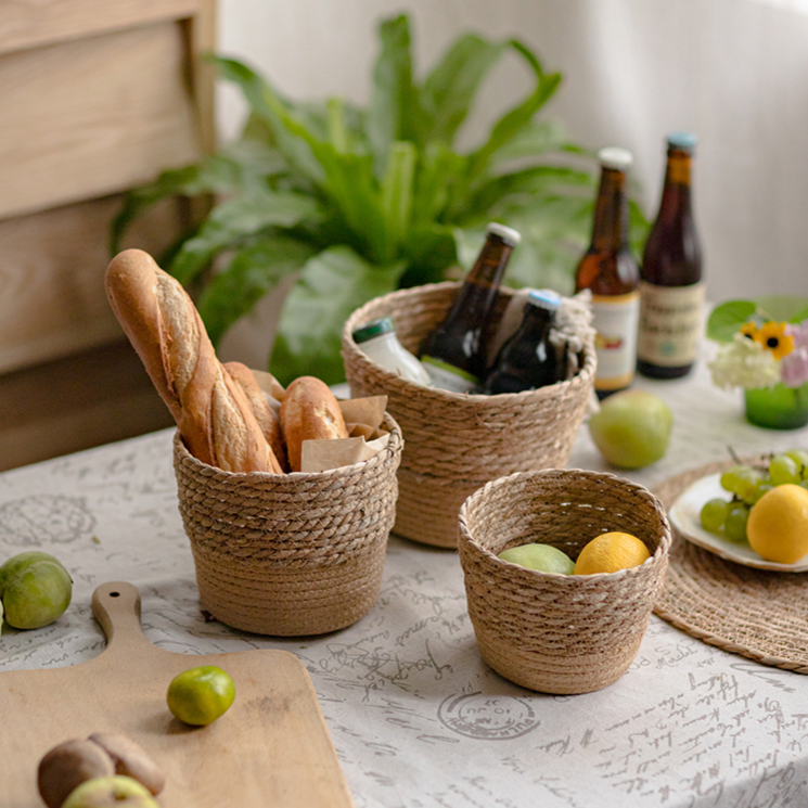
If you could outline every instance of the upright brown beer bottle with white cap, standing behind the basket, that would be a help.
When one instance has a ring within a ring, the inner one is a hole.
[[[631,153],[607,148],[598,153],[601,180],[594,208],[592,242],[578,264],[576,292],[592,293],[592,325],[599,398],[628,387],[637,364],[640,272],[628,246],[626,174]]]

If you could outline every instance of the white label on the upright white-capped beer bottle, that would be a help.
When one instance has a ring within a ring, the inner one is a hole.
[[[640,293],[592,295],[592,325],[598,332],[594,338],[598,357],[594,387],[598,390],[628,387],[637,364]]]

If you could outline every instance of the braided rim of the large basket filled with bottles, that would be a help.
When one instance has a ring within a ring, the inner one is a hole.
[[[583,367],[576,373],[572,379],[567,379],[564,382],[556,382],[555,384],[546,385],[543,387],[538,387],[535,390],[522,390],[520,393],[498,393],[493,396],[487,396],[478,393],[453,393],[451,390],[446,390],[440,387],[427,387],[423,384],[418,384],[416,382],[412,382],[409,379],[406,379],[403,376],[399,376],[396,373],[392,373],[386,368],[382,367],[377,362],[373,361],[363,350],[359,348],[357,343],[354,341],[352,332],[356,328],[355,323],[358,320],[364,319],[363,312],[367,311],[371,306],[377,306],[381,302],[389,303],[394,302],[400,298],[406,298],[409,296],[412,296],[413,294],[423,294],[423,293],[429,293],[429,292],[436,292],[436,291],[443,291],[446,288],[453,288],[453,287],[460,287],[462,285],[461,281],[440,281],[439,283],[427,283],[422,286],[409,286],[408,288],[399,288],[395,292],[388,292],[386,295],[380,295],[379,297],[374,297],[372,300],[368,300],[363,306],[360,306],[358,309],[355,309],[355,311],[350,315],[350,317],[345,321],[345,324],[343,325],[343,350],[350,350],[360,361],[364,361],[368,364],[372,365],[373,368],[382,371],[384,375],[390,376],[392,379],[395,379],[400,382],[403,389],[407,388],[418,388],[419,395],[425,397],[425,398],[433,398],[438,401],[446,401],[446,400],[453,400],[453,401],[463,401],[471,405],[474,405],[476,407],[479,407],[480,405],[486,405],[489,407],[500,407],[503,403],[510,403],[511,401],[516,401],[520,399],[525,399],[526,397],[530,396],[534,398],[546,398],[546,397],[552,397],[557,395],[559,390],[562,387],[577,387],[580,385],[589,384],[591,379],[594,377],[594,371],[595,371],[595,354],[594,354],[594,345],[590,345],[587,343],[585,345],[585,362]],[[502,292],[505,294],[515,294],[516,290],[503,286]]]

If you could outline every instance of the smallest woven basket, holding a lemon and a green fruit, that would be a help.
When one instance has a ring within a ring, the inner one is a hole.
[[[617,681],[640,647],[670,549],[665,509],[641,486],[578,470],[493,480],[460,511],[460,562],[483,658],[544,693],[589,693]],[[531,542],[573,560],[611,530],[641,539],[651,559],[618,573],[557,575],[497,555]]]

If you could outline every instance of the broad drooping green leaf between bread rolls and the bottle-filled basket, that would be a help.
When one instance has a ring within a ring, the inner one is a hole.
[[[311,258],[283,307],[270,371],[282,384],[302,375],[345,381],[343,323],[359,306],[395,290],[402,271],[403,264],[374,266],[345,246]]]

